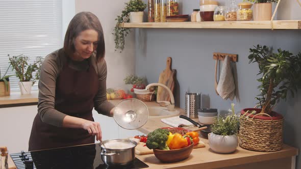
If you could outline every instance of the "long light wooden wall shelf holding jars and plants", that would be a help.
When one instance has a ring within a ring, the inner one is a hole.
[[[274,21],[215,21],[215,22],[143,22],[123,23],[126,28],[186,28],[186,29],[271,29],[299,30],[301,20],[274,20]]]

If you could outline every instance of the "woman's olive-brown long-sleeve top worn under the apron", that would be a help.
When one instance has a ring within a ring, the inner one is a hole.
[[[106,79],[107,64],[103,59],[96,63],[95,55],[84,61],[72,61],[69,59],[63,49],[56,50],[48,54],[41,66],[41,75],[39,81],[39,103],[38,114],[44,123],[61,127],[66,114],[55,109],[56,80],[60,75],[63,66],[68,60],[68,66],[71,69],[85,71],[92,65],[98,74],[98,92],[94,97],[94,109],[106,116],[110,115],[110,110],[114,105],[107,101]],[[60,100],[64,101],[64,100]]]

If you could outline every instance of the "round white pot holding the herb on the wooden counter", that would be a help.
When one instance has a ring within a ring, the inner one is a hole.
[[[232,153],[238,146],[238,137],[233,135],[208,134],[209,146],[216,153]]]

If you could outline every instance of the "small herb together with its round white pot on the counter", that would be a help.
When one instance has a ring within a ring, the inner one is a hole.
[[[229,111],[228,116],[214,120],[208,134],[209,146],[216,153],[232,153],[238,146],[239,116],[235,115],[234,103]]]

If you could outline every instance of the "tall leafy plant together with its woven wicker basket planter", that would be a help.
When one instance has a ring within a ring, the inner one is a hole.
[[[287,93],[292,96],[301,82],[301,53],[293,55],[289,51],[278,49],[272,53],[266,46],[257,45],[250,49],[249,63],[258,63],[257,79],[261,84],[259,97],[260,108],[241,110],[239,145],[248,150],[263,152],[282,149],[283,116],[273,107],[286,99]]]

